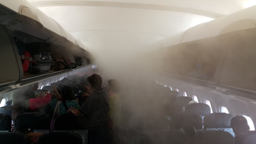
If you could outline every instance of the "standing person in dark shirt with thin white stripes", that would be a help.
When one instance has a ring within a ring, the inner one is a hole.
[[[89,144],[108,144],[109,127],[108,93],[102,89],[102,78],[93,74],[87,78],[90,86],[85,86],[89,96],[79,109],[70,108],[68,111],[79,116],[85,114],[89,120]]]

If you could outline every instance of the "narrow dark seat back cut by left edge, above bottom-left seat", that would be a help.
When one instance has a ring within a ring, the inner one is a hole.
[[[0,131],[10,132],[12,129],[12,118],[9,115],[0,113]]]

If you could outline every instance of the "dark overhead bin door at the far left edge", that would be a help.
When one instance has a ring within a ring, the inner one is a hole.
[[[0,88],[15,84],[20,78],[20,69],[15,56],[12,43],[6,34],[6,31],[0,25]],[[22,73],[23,75],[23,73]]]

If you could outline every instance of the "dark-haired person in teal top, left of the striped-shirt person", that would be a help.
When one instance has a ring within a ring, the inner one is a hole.
[[[54,109],[57,102],[61,101],[60,105],[59,105],[59,114],[64,114],[67,113],[67,110],[70,107],[74,107],[76,109],[79,108],[79,104],[78,102],[75,100],[75,97],[73,95],[73,90],[70,86],[64,86],[61,89],[61,95],[59,95],[56,86],[53,86],[52,89],[54,90],[55,94],[56,94],[56,98],[53,98],[49,105]],[[62,97],[61,97],[62,96]]]

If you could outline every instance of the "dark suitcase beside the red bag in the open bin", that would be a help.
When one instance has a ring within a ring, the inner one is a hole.
[[[31,51],[32,62],[29,65],[28,72],[30,74],[42,74],[49,72],[52,64],[52,58],[49,52],[41,52],[40,50]]]

